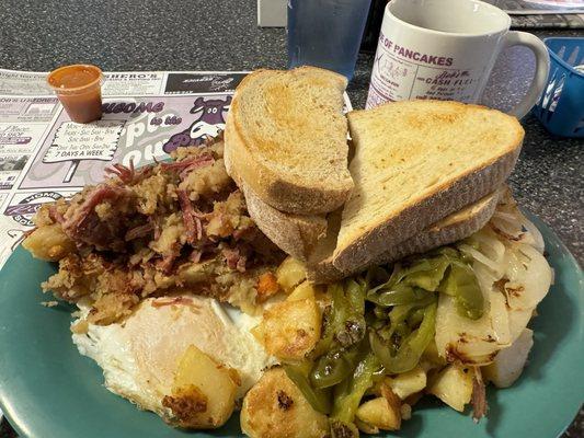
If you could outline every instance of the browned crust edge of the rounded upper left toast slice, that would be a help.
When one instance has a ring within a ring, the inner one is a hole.
[[[343,76],[314,67],[302,67],[297,70],[314,70],[325,74],[329,81],[336,81],[339,89],[346,87]],[[346,171],[345,175],[330,172],[327,181],[307,181],[294,177],[286,172],[278,172],[274,166],[267,165],[265,158],[256,157],[250,151],[249,139],[245,136],[245,126],[252,122],[241,119],[241,90],[250,87],[257,74],[268,70],[257,70],[249,74],[238,85],[236,95],[227,116],[225,139],[231,149],[232,165],[241,180],[253,189],[260,199],[272,207],[297,215],[318,215],[334,210],[348,197],[353,188],[353,181]],[[316,108],[316,111],[319,111]],[[346,125],[345,125],[346,127]],[[301,127],[299,127],[301,128]],[[273,148],[270,139],[261,140],[261,148]],[[257,141],[254,143],[257,146]],[[345,159],[346,160],[346,152]],[[346,161],[345,161],[346,162]]]

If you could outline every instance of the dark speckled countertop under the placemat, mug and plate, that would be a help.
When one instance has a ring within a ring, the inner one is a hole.
[[[1,0],[0,68],[48,71],[92,62],[103,70],[247,70],[286,67],[286,34],[256,26],[255,0]],[[584,36],[583,31],[539,31]],[[367,95],[373,56],[363,55],[348,92]],[[484,103],[508,108],[529,83],[534,59],[512,48],[495,66]],[[519,204],[584,261],[584,141],[551,137],[531,116],[511,177]],[[584,416],[566,436],[582,437]],[[580,424],[580,425],[577,425]],[[0,437],[9,436],[0,427]]]

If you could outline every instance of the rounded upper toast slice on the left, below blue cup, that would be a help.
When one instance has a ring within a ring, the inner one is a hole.
[[[297,215],[348,197],[345,77],[314,68],[257,70],[241,81],[227,117],[231,164],[260,199]]]

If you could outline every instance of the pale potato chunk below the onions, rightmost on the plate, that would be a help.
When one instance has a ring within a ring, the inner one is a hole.
[[[497,388],[511,387],[522,374],[533,346],[534,332],[525,328],[511,347],[499,351],[493,364],[481,368],[483,377]]]

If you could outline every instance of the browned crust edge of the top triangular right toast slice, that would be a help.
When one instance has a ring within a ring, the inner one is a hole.
[[[457,108],[483,106],[466,105],[450,102]],[[358,116],[362,116],[364,112]],[[350,117],[351,126],[351,117]],[[431,223],[460,210],[501,186],[513,171],[520,152],[524,130],[518,123],[514,126],[513,140],[505,146],[505,151],[492,157],[480,168],[468,169],[457,175],[456,180],[447,180],[435,184],[423,199],[410,198],[394,215],[378,214],[367,223],[366,229],[353,232],[345,241],[337,242],[333,254],[334,266],[343,272],[356,272],[371,265],[383,254],[387,247],[409,239]],[[346,211],[346,205],[345,205]]]

